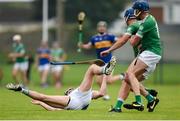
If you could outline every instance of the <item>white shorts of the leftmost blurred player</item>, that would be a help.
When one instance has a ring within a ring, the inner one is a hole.
[[[20,70],[20,71],[27,71],[27,69],[28,69],[28,62],[21,62],[21,63],[16,62],[14,64],[13,69]]]

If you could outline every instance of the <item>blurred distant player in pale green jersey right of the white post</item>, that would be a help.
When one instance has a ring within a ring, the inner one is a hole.
[[[65,61],[66,54],[64,50],[59,47],[58,42],[54,42],[51,49],[51,60],[52,61]],[[60,88],[62,86],[62,78],[63,78],[63,65],[56,65],[51,68],[52,76],[55,81],[55,87]]]

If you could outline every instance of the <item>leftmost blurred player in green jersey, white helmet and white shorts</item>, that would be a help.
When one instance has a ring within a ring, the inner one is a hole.
[[[25,85],[29,83],[26,77],[28,63],[25,58],[26,50],[22,43],[22,37],[19,34],[13,36],[13,51],[9,54],[9,58],[14,61],[14,67],[12,70],[13,79],[16,83],[20,83],[18,75],[21,75],[21,80]]]

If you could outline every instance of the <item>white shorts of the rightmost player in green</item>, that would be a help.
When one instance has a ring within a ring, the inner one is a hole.
[[[144,78],[147,79],[148,76],[156,69],[156,64],[159,63],[161,56],[150,51],[143,51],[139,55],[138,59],[143,61],[148,66],[146,68],[146,72],[143,74]]]

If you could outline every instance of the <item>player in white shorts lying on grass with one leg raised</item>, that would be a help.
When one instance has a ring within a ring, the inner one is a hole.
[[[50,96],[29,89],[24,88],[21,85],[8,84],[9,90],[22,92],[23,94],[32,98],[32,103],[37,104],[49,111],[54,110],[85,110],[88,108],[92,99],[97,99],[105,94],[106,80],[103,80],[99,91],[92,90],[93,77],[95,75],[110,75],[114,70],[116,64],[115,57],[112,57],[111,61],[103,67],[92,64],[85,73],[84,79],[79,87],[75,90],[68,90],[64,95]]]

